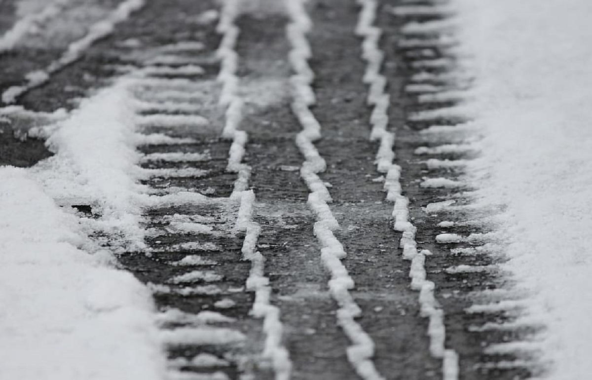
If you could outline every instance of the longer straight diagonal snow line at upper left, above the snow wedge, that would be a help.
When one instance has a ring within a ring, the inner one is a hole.
[[[111,34],[115,29],[115,24],[126,20],[130,16],[131,12],[137,11],[143,6],[144,0],[126,0],[122,2],[108,15],[107,18],[91,25],[86,36],[74,41],[73,43],[70,43],[65,53],[63,53],[58,60],[50,63],[50,65],[44,70],[37,70],[28,73],[25,76],[25,78],[27,78],[27,83],[25,85],[12,86],[5,90],[2,93],[2,102],[8,104],[14,103],[18,96],[30,91],[33,88],[43,85],[43,83],[46,83],[53,73],[63,69],[63,67],[66,67],[73,62],[76,62],[76,60],[80,59],[85,50],[91,47],[92,44]]]

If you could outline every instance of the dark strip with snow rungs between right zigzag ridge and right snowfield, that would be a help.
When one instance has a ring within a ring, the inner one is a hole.
[[[416,239],[433,253],[425,266],[439,284],[436,297],[447,313],[447,344],[460,355],[459,375],[527,378],[537,371],[531,342],[540,327],[521,313],[527,295],[497,269],[504,257],[496,210],[474,205],[464,179],[479,133],[462,105],[471,79],[456,56],[451,16],[446,2],[408,1],[392,4],[381,20],[397,22],[387,26],[392,37],[385,47],[409,78],[401,88],[410,128],[398,130],[395,143],[399,159],[408,162],[402,173],[422,178],[404,183],[403,191],[414,199],[410,217],[423,226]]]

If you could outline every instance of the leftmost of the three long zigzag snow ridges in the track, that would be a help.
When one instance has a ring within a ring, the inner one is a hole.
[[[276,380],[288,380],[292,372],[292,362],[288,350],[282,344],[284,326],[279,318],[279,308],[269,301],[271,287],[269,278],[264,273],[265,257],[256,250],[261,227],[252,221],[255,192],[248,190],[251,168],[242,163],[248,136],[245,131],[237,129],[242,120],[243,100],[237,95],[239,78],[236,76],[238,54],[235,47],[240,30],[234,22],[239,14],[240,2],[242,0],[224,0],[217,25],[218,33],[223,35],[216,52],[221,59],[218,80],[222,83],[222,90],[219,103],[226,107],[222,136],[232,139],[227,170],[238,173],[230,198],[240,199],[236,229],[246,233],[242,254],[244,260],[251,262],[246,288],[255,292],[255,302],[250,313],[256,318],[263,318],[265,345],[262,357],[271,360]]]

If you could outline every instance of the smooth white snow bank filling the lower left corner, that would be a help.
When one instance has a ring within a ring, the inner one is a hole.
[[[0,378],[162,379],[152,296],[23,169],[0,168]]]

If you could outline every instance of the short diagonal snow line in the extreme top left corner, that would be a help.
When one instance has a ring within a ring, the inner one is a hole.
[[[36,25],[43,24],[52,17],[57,16],[71,0],[54,0],[47,4],[41,11],[28,14],[12,25],[12,28],[7,30],[2,37],[0,37],[0,53],[14,49],[27,33],[29,33]]]

